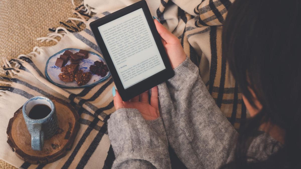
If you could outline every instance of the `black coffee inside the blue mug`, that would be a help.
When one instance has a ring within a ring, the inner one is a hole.
[[[29,111],[28,117],[31,119],[45,118],[51,112],[51,108],[45,104],[36,104]]]

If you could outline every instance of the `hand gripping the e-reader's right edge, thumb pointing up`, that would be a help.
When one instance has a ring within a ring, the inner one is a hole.
[[[172,69],[178,67],[186,59],[186,54],[182,48],[179,39],[169,32],[161,23],[154,19],[157,31],[161,36],[161,40],[165,51],[169,57]]]

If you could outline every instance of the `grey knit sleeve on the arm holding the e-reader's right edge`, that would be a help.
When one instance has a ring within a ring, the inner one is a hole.
[[[188,168],[219,168],[233,158],[237,132],[222,114],[189,58],[159,88],[170,146]]]

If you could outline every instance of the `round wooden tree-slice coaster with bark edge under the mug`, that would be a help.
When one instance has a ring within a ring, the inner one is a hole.
[[[7,143],[19,158],[30,164],[48,164],[64,157],[71,149],[79,130],[79,115],[73,106],[58,98],[50,99],[55,105],[59,129],[54,136],[44,140],[42,151],[31,149],[31,135],[23,118],[22,107],[8,123]]]

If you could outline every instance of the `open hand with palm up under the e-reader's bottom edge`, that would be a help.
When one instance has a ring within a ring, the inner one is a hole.
[[[160,117],[157,86],[151,89],[150,102],[148,99],[148,91],[145,91],[129,101],[123,102],[117,90],[115,90],[116,94],[114,96],[114,90],[115,88],[113,88],[113,99],[116,110],[121,108],[138,109],[145,120],[155,120]]]

